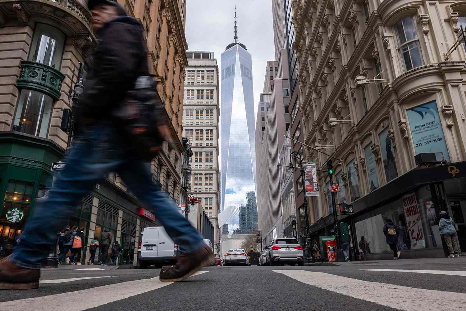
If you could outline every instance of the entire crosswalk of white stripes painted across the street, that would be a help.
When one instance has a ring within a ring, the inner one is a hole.
[[[289,267],[291,268],[291,267]],[[234,270],[234,269],[233,269]],[[233,270],[222,270],[216,269],[212,271],[201,270],[195,273],[193,276],[205,274],[204,279],[212,279],[213,282],[219,281],[219,274],[221,271],[225,273],[233,272]],[[322,290],[328,290],[335,293],[335,297],[338,295],[345,295],[347,297],[356,298],[365,302],[370,302],[380,305],[380,310],[384,307],[389,307],[398,310],[405,311],[434,311],[438,310],[441,306],[442,311],[453,311],[453,310],[464,310],[466,305],[466,294],[453,291],[442,291],[432,290],[425,288],[418,288],[413,283],[412,286],[401,286],[397,284],[379,283],[372,281],[364,281],[347,276],[341,276],[334,274],[341,274],[341,270],[326,270],[326,272],[316,272],[315,270],[296,270],[292,269],[280,269],[280,270],[251,270],[261,271],[266,273],[269,277],[281,275],[281,277],[291,278],[296,281],[296,284],[303,283],[307,285],[300,286],[314,286]],[[328,272],[331,273],[328,273]],[[444,276],[466,276],[466,271],[462,270],[400,270],[400,269],[356,269],[353,271],[359,271],[364,275],[373,276],[374,274],[389,273],[393,276],[399,275],[399,273],[413,273],[413,274],[431,274],[431,275],[444,275]],[[78,273],[78,271],[76,271]],[[84,271],[83,271],[84,273]],[[41,280],[41,284],[48,284],[48,287],[58,286],[64,283],[72,283],[81,280],[93,280],[93,279],[111,279],[117,277],[111,276],[82,276],[73,278],[63,278],[56,280]],[[241,277],[240,274],[236,277]],[[261,277],[264,277],[262,275]],[[367,279],[367,278],[366,278]],[[214,281],[215,280],[215,281]],[[222,277],[223,280],[223,277]],[[285,279],[283,279],[285,280]],[[466,282],[466,279],[465,281]],[[195,282],[197,283],[197,282]],[[157,277],[151,277],[147,279],[140,279],[134,281],[113,283],[98,287],[92,287],[82,290],[75,290],[71,292],[63,292],[58,294],[52,294],[48,296],[31,297],[25,299],[18,299],[7,302],[0,302],[1,311],[50,311],[50,310],[61,310],[63,302],[67,305],[72,305],[73,310],[87,310],[90,308],[100,307],[104,309],[104,304],[113,303],[123,299],[136,299],[137,295],[148,293],[151,291],[160,290],[172,283],[162,283],[158,281]],[[194,285],[194,284],[192,284]],[[189,289],[183,284],[185,289]],[[411,285],[411,284],[410,284]],[[212,286],[212,285],[211,285]],[[223,285],[219,285],[223,286]],[[279,284],[277,284],[279,286]],[[298,286],[298,285],[296,285]],[[309,287],[311,290],[312,287]],[[433,286],[432,288],[435,288]],[[47,290],[42,288],[43,294],[47,295]],[[19,296],[21,297],[21,296]],[[83,299],[85,297],[85,299]],[[343,296],[340,296],[343,297]],[[240,297],[234,297],[234,292],[231,293],[231,297],[225,297],[225,299],[239,299]],[[448,303],[445,304],[445,301]],[[144,309],[145,310],[145,309]],[[197,309],[193,309],[197,310]]]

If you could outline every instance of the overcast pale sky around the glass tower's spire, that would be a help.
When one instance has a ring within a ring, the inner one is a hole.
[[[186,40],[190,50],[214,52],[221,71],[220,54],[233,42],[235,3],[239,40],[253,56],[255,121],[266,63],[275,59],[272,0],[187,0]]]

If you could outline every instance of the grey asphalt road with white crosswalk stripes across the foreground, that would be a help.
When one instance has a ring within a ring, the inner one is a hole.
[[[466,309],[466,256],[325,267],[208,267],[179,283],[161,283],[158,273],[85,265],[45,269],[39,289],[0,290],[0,310]]]

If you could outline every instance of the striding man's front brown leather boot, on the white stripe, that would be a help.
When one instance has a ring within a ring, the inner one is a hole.
[[[212,250],[203,246],[194,254],[179,257],[174,267],[160,270],[159,280],[160,282],[183,281],[202,267],[210,265],[213,259]]]

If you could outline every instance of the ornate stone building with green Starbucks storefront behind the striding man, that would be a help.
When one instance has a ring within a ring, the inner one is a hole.
[[[183,191],[183,157],[189,154],[181,141],[186,3],[118,2],[144,27],[149,69],[160,81],[158,93],[175,141],[173,148],[164,145],[151,170],[154,182],[178,201]],[[43,195],[40,189],[51,186],[52,163],[63,158],[68,141],[60,127],[63,110],[72,108],[68,95],[79,62],[84,64],[85,78],[96,42],[84,0],[0,1],[0,232],[9,249],[14,249],[14,241],[33,214],[35,198]],[[17,223],[4,217],[12,207],[24,212]],[[136,264],[141,229],[157,223],[153,217],[145,218],[147,215],[123,180],[110,173],[83,198],[69,224],[85,228],[86,248],[108,226],[112,239],[124,246],[118,263]],[[83,252],[82,262],[88,257],[89,253]]]

